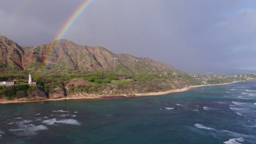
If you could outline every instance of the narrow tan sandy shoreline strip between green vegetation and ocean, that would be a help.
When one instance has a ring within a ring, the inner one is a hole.
[[[184,87],[181,89],[172,89],[170,91],[165,91],[165,92],[150,92],[150,93],[135,93],[132,95],[127,95],[127,94],[121,94],[120,97],[146,97],[146,96],[152,96],[152,95],[164,95],[164,94],[170,94],[170,93],[177,93],[177,92],[185,92],[189,91],[192,88],[197,88],[197,87],[205,87],[205,86],[220,86],[220,85],[229,85],[231,83],[236,83],[236,82],[241,82],[241,81],[234,81],[230,83],[221,83],[221,84],[213,84],[213,85],[197,85],[197,86],[189,86],[189,87]],[[82,98],[59,98],[59,99],[44,99],[44,100],[6,100],[6,101],[0,101],[0,104],[20,104],[20,103],[42,103],[44,101],[59,101],[59,100],[79,100],[79,99],[106,99],[106,98],[117,98],[119,95],[106,95],[106,96],[97,96],[97,97],[82,97]]]

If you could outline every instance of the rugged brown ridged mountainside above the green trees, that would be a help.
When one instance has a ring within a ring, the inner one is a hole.
[[[0,63],[24,70],[39,70],[48,65],[54,70],[113,71],[115,73],[179,73],[167,63],[149,58],[135,57],[126,53],[115,54],[104,47],[78,45],[61,39],[51,43],[21,47],[14,41],[0,35]],[[48,61],[48,57],[51,58]]]

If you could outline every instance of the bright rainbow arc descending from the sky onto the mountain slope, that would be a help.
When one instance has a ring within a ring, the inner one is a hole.
[[[69,18],[66,20],[66,22],[64,23],[64,25],[61,27],[59,33],[56,35],[56,37],[54,38],[54,40],[57,40],[57,42],[53,45],[53,47],[51,47],[50,49],[50,54],[48,57],[45,58],[44,62],[45,64],[43,65],[43,68],[40,68],[43,72],[46,69],[46,66],[48,65],[49,61],[51,60],[51,57],[53,56],[53,54],[56,52],[58,46],[61,43],[61,40],[63,38],[63,36],[68,32],[69,28],[74,24],[74,22],[78,19],[78,17],[86,10],[86,8],[88,8],[92,2],[94,2],[95,0],[85,0],[84,2],[82,2],[82,4],[79,5],[79,7],[77,9],[75,9],[75,11],[69,16]]]

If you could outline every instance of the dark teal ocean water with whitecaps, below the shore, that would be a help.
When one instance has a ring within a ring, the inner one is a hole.
[[[256,143],[256,82],[0,105],[0,143]]]

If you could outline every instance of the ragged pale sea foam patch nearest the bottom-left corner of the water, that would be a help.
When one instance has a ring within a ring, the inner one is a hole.
[[[19,136],[31,136],[31,135],[38,134],[37,131],[39,130],[48,130],[48,128],[44,125],[35,126],[33,124],[28,124],[28,125],[20,125],[20,128],[10,129],[9,131],[12,131]]]

